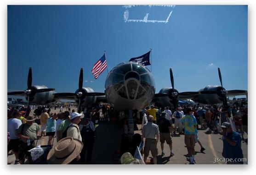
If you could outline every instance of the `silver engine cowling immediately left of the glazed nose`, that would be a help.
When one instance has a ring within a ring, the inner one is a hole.
[[[80,90],[77,89],[75,91],[75,94],[77,94]],[[81,106],[84,106],[86,108],[91,108],[93,104],[96,103],[96,96],[86,96],[86,93],[94,93],[94,90],[89,87],[85,87],[81,89],[82,92],[82,98],[81,98]],[[79,98],[75,96],[75,102],[79,104]]]

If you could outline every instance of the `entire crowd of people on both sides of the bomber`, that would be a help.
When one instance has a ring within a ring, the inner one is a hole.
[[[63,145],[68,147],[69,143],[76,144],[81,149],[80,151],[78,149],[79,153],[75,154],[74,159],[69,159],[68,164],[91,164],[95,124],[96,120],[100,119],[100,111],[108,121],[118,119],[119,112],[109,104],[99,104],[91,109],[83,109],[84,118],[81,119],[82,114],[75,112],[74,109],[70,111],[70,106],[65,106],[67,110],[63,112],[64,106],[60,105],[58,106],[60,112],[55,113],[51,113],[51,107],[55,108],[55,106],[37,106],[34,109],[34,116],[28,117],[25,116],[26,108],[24,107],[7,109],[7,154],[12,150],[16,158],[15,164],[24,164],[25,157],[29,157],[28,150],[36,146],[35,141],[48,136],[48,145],[53,145],[54,137],[57,139],[57,144],[48,155],[48,164],[57,164],[60,161],[57,147]],[[205,150],[197,135],[199,129],[208,129],[209,133],[222,134],[224,158],[243,158],[241,140],[248,142],[248,138],[244,138],[244,132],[248,134],[247,113],[246,106],[221,108],[190,105],[171,111],[169,107],[161,109],[151,105],[150,108],[140,111],[139,117],[140,121],[142,120],[142,140],[145,138],[144,161],[146,162],[150,151],[154,164],[157,164],[158,141],[160,141],[161,155],[165,155],[164,143],[166,142],[170,148],[170,156],[173,156],[172,137],[176,134],[184,134],[184,142],[188,150],[187,159],[190,164],[195,164],[195,143],[199,143],[201,152]],[[233,116],[232,120],[230,120],[231,116]],[[241,138],[236,131],[240,131]],[[60,144],[60,142],[63,143]],[[234,151],[237,154],[233,154]],[[87,155],[86,158],[85,155]],[[236,163],[242,164],[243,162]],[[60,164],[67,164],[67,161],[63,159]]]

